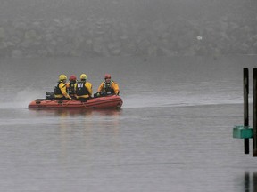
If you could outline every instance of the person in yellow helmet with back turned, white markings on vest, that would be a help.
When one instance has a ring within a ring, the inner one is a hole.
[[[87,75],[81,74],[80,81],[75,86],[76,98],[78,100],[88,100],[91,98],[93,92],[92,84],[87,82]]]

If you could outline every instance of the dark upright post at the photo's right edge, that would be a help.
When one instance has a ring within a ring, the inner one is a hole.
[[[257,156],[257,68],[253,68],[253,156]]]

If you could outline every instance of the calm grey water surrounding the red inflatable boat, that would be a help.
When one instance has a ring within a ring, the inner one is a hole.
[[[0,60],[0,191],[257,190],[257,159],[232,138],[243,124],[243,68],[251,101],[256,59]],[[121,110],[28,109],[62,73],[86,73],[96,92],[106,72]]]

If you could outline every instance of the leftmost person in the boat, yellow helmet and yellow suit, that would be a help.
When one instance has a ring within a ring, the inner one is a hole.
[[[54,87],[54,99],[71,100],[71,97],[67,92],[66,81],[67,81],[67,76],[65,75],[59,76],[59,81]]]

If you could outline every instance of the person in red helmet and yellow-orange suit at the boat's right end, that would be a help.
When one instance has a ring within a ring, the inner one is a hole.
[[[112,81],[110,74],[105,74],[104,82],[100,84],[94,96],[103,97],[107,95],[119,95],[119,94],[120,94],[119,85],[116,82]]]

